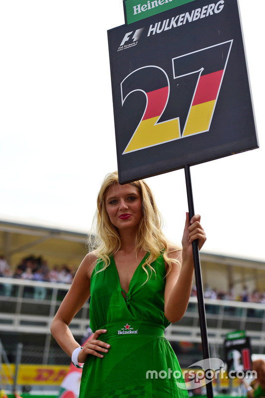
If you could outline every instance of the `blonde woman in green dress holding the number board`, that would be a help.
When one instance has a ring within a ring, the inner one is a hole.
[[[206,240],[200,216],[186,213],[181,250],[165,238],[145,181],[119,185],[115,172],[98,194],[97,236],[51,325],[74,365],[84,363],[80,397],[187,397],[164,329],[186,311],[192,242]],[[89,297],[94,335],[81,348],[69,324]]]

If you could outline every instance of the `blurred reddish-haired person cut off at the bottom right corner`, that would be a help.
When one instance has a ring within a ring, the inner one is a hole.
[[[241,383],[247,389],[248,398],[264,398],[265,397],[265,361],[262,359],[257,359],[252,362],[252,370],[257,372],[257,378],[254,379],[250,386],[245,381],[241,379]]]

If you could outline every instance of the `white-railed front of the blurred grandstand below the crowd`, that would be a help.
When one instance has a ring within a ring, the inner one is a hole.
[[[50,323],[70,285],[0,278],[0,331],[46,334],[45,358],[50,348]],[[205,299],[209,344],[223,344],[226,333],[246,330],[259,353],[265,347],[265,304]],[[75,316],[71,330],[80,339],[89,325],[88,302]],[[170,341],[200,342],[197,298],[191,297],[183,319],[166,329]]]

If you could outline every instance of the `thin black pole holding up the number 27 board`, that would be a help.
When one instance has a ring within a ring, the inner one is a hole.
[[[187,190],[187,199],[188,199],[188,212],[189,212],[189,219],[191,219],[194,215],[194,203],[193,203],[189,165],[185,165],[184,170],[185,170],[186,190]],[[202,353],[203,353],[203,359],[209,359],[210,351],[208,344],[207,324],[206,324],[205,306],[203,298],[200,255],[199,255],[199,247],[197,241],[192,242],[192,250],[193,250],[194,273],[195,273],[197,299],[198,299]],[[207,391],[207,397],[213,398],[212,382],[206,384],[206,391]]]

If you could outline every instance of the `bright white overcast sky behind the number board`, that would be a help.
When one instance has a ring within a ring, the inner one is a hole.
[[[260,148],[190,172],[203,251],[265,261],[265,2],[239,5]],[[123,23],[122,0],[0,0],[0,220],[90,230],[117,169],[107,29]],[[180,243],[184,171],[146,181]]]

